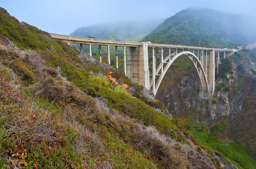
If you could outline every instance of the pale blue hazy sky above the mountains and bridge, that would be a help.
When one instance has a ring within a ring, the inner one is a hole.
[[[212,8],[256,16],[256,0],[0,0],[19,21],[49,33],[116,21],[167,19],[185,8]]]

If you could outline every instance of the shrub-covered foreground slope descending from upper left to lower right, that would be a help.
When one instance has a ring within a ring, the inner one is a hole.
[[[234,168],[122,72],[3,8],[0,84],[0,168]]]

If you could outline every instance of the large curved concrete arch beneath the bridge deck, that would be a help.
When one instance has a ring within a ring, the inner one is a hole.
[[[167,73],[167,70],[170,68],[170,65],[172,65],[172,63],[178,57],[183,56],[183,55],[187,56],[192,61],[195,68],[197,69],[197,74],[198,74],[198,77],[200,79],[200,87],[201,87],[201,90],[202,90],[202,92],[199,92],[199,96],[204,98],[204,99],[208,99],[210,97],[209,96],[210,90],[209,90],[209,86],[208,86],[206,73],[203,69],[203,65],[202,65],[201,61],[198,59],[198,56],[195,55],[193,52],[190,52],[190,51],[180,52],[180,53],[174,55],[172,57],[172,59],[169,60],[169,62],[167,63],[167,65],[165,65],[165,67],[163,69],[163,73],[161,73],[159,79],[157,79],[155,87],[153,87],[153,82],[152,82],[153,79],[151,79],[150,87],[152,87],[153,94],[156,95],[157,90],[159,89],[160,84],[163,81],[163,78],[164,78],[165,74]],[[165,58],[165,60],[167,60],[167,58]],[[159,68],[158,68],[158,70],[159,70]]]

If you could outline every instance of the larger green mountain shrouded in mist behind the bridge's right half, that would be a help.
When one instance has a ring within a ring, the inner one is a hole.
[[[237,48],[254,43],[256,18],[210,9],[187,8],[169,17],[142,41]]]

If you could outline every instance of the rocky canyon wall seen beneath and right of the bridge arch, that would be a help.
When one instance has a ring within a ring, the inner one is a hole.
[[[204,144],[244,168],[254,168],[248,166],[255,165],[254,160],[237,152],[249,152],[256,159],[256,50],[235,52],[228,59],[232,61],[232,70],[221,72],[225,66],[223,60],[212,99],[200,99],[198,75],[185,57],[176,60],[169,69],[156,98],[163,101],[173,117],[180,119]],[[221,141],[212,135],[211,128],[216,125]]]

